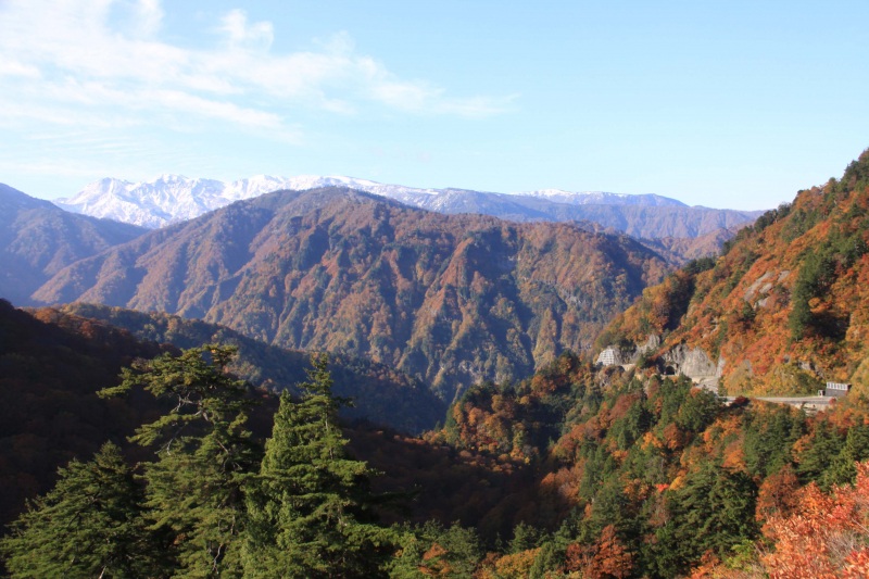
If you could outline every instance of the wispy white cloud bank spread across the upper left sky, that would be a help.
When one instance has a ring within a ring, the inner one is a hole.
[[[503,113],[514,99],[461,98],[399,78],[358,53],[345,33],[312,51],[277,53],[274,25],[250,22],[243,10],[212,24],[219,40],[207,48],[162,39],[163,21],[159,0],[0,2],[0,79],[8,87],[0,95],[0,123],[15,115],[59,125],[99,115],[146,123],[158,113],[269,128],[298,141],[298,115],[305,108],[352,115],[377,105],[481,117]]]

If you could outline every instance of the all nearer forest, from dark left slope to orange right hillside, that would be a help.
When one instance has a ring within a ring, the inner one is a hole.
[[[275,353],[225,329],[0,302],[7,572],[867,577],[867,210],[869,152],[643,291],[597,339],[631,363],[465,385],[421,435],[342,419],[326,354],[257,389]],[[725,399],[679,375],[688,348],[730,394],[853,388]]]

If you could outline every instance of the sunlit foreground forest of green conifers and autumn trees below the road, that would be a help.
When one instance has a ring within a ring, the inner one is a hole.
[[[413,438],[340,429],[323,356],[264,418],[226,372],[234,348],[146,354],[99,400],[155,412],[11,525],[13,576],[796,577],[807,542],[806,569],[867,570],[861,395],[816,416],[725,406],[564,354],[471,388]]]

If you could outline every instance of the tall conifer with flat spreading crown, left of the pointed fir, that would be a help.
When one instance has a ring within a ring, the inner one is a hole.
[[[226,372],[236,349],[207,344],[124,370],[113,395],[142,386],[172,410],[133,440],[156,448],[144,465],[146,518],[162,540],[165,571],[185,577],[241,575],[245,477],[260,453],[245,429],[248,387]]]

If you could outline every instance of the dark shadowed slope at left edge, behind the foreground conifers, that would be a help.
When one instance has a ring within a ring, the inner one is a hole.
[[[0,526],[53,484],[58,466],[125,437],[159,408],[99,399],[123,366],[165,348],[52,310],[0,300]],[[150,414],[149,414],[150,413]]]

